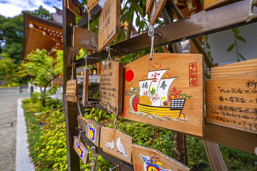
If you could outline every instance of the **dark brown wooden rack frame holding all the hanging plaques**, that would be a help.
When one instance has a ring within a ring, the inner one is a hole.
[[[91,9],[91,12],[93,13],[91,14],[92,20],[96,19],[100,15],[104,2],[105,0],[100,0],[100,2]],[[155,29],[155,31],[157,33],[160,33],[161,37],[155,36],[154,46],[159,47],[257,22],[256,8],[253,8],[254,18],[248,23],[245,22],[248,18],[249,2],[250,0],[231,0],[217,6],[217,8],[211,9],[209,11],[201,11],[189,17],[180,19],[176,22],[159,27]],[[82,27],[87,22],[88,16],[84,16],[78,23],[76,23],[76,25],[78,25],[78,27]],[[70,23],[75,24],[75,15],[68,9],[66,9],[63,4],[63,106],[66,119],[67,159],[68,170],[77,171],[80,170],[79,157],[72,148],[73,136],[75,135],[75,133],[76,135],[78,135],[78,128],[76,128],[78,126],[76,119],[78,115],[77,104],[67,102],[66,100],[66,81],[70,79],[72,73],[71,67],[68,65],[68,55],[69,49],[71,47],[71,34],[73,33],[72,28],[70,27]],[[187,27],[185,27],[185,25]],[[190,30],[188,28],[190,28]],[[111,51],[111,56],[115,57],[135,53],[138,51],[149,49],[150,46],[151,39],[148,36],[148,33],[144,33],[113,45],[111,48],[117,49],[117,51]],[[106,59],[107,56],[108,52],[106,51],[103,51],[101,53],[93,53],[89,55],[89,57],[94,58],[88,59],[87,64],[89,65],[102,61]],[[76,62],[76,67],[85,66],[85,60],[83,58],[74,62]],[[74,78],[76,78],[75,74]],[[88,103],[90,103],[90,101],[97,100],[98,99],[89,98]],[[99,104],[96,105],[96,108],[107,111],[107,109],[100,106]],[[207,140],[209,142],[232,147],[251,154],[254,154],[254,148],[257,146],[256,134],[219,125],[209,124],[206,122],[205,134],[203,137],[198,137],[195,135],[189,136],[194,136],[203,140]],[[82,136],[82,140],[89,146],[93,145],[93,143],[91,143],[90,140],[86,138],[86,136]],[[103,152],[101,148],[97,148],[97,152],[113,166],[123,163],[123,165],[121,166],[122,170],[134,170],[133,165],[128,164]]]

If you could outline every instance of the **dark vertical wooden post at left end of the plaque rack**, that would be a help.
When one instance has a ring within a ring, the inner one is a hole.
[[[68,58],[69,51],[71,48],[71,34],[72,29],[70,23],[75,24],[75,15],[70,12],[62,3],[63,8],[63,109],[65,113],[65,123],[66,123],[66,142],[67,142],[67,160],[68,160],[68,171],[79,171],[79,156],[73,149],[73,136],[74,128],[78,126],[77,123],[77,104],[73,102],[67,102],[66,96],[66,82],[71,78],[72,68],[69,67]],[[74,69],[73,74],[74,79],[76,79],[76,69]]]

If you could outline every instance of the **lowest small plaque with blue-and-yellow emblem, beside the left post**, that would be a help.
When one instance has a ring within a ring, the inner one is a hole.
[[[74,139],[73,149],[76,151],[82,162],[86,165],[89,152],[87,147],[77,137]]]

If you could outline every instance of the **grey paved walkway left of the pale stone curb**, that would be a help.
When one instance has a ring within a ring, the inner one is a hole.
[[[0,170],[15,171],[17,99],[28,93],[0,93]]]

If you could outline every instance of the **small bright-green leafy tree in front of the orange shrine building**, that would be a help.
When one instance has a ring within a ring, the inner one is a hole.
[[[47,56],[45,49],[31,52],[27,55],[24,63],[21,63],[20,76],[33,76],[32,84],[38,85],[41,91],[42,105],[45,106],[45,99],[57,91],[57,86],[53,84],[47,91],[51,81],[59,74],[63,73],[63,51],[54,50],[56,59]]]

